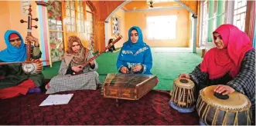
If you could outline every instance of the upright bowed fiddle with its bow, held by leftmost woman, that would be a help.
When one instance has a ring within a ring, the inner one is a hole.
[[[32,27],[37,28],[37,26],[32,26],[32,20],[38,21],[38,18],[32,18],[32,9],[29,5],[28,21],[20,20],[21,23],[27,22],[27,35],[32,36]],[[48,61],[48,60],[47,60]],[[26,41],[26,61],[16,61],[16,62],[1,62],[0,65],[14,65],[22,64],[22,70],[26,74],[39,74],[43,70],[43,63],[39,59],[31,59],[31,41]]]

